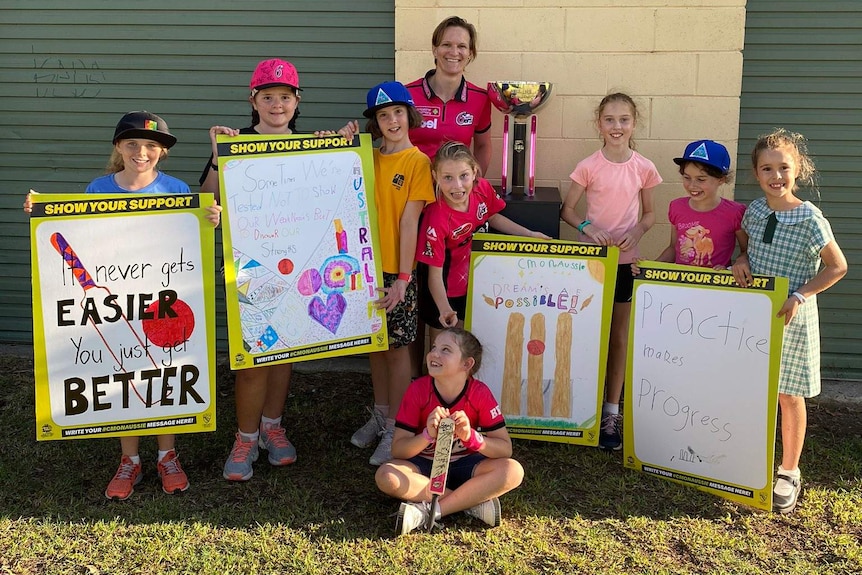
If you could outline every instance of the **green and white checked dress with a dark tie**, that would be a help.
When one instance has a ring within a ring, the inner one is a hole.
[[[820,269],[820,252],[835,239],[832,227],[811,202],[792,210],[775,212],[778,225],[772,243],[763,243],[766,221],[773,213],[766,198],[751,202],[742,218],[748,233],[751,272],[783,276],[790,280],[790,293],[807,283]],[[784,328],[778,391],[787,395],[814,397],[820,393],[820,319],[817,297],[800,305],[793,321]]]

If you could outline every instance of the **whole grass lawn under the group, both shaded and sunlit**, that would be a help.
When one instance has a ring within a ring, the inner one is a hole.
[[[32,362],[0,356],[0,574],[69,573],[862,573],[862,412],[812,404],[805,491],[790,516],[737,506],[627,470],[620,454],[516,441],[527,471],[503,525],[465,516],[394,536],[398,504],[374,486],[366,374],[298,374],[287,402],[296,464],[221,478],[232,376],[219,368],[215,433],[179,438],[188,492],[162,493],[155,442],[126,502],[102,492],[116,439],[37,443]]]

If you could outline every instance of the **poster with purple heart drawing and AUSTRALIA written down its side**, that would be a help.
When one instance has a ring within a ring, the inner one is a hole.
[[[388,349],[371,136],[218,138],[231,366]]]

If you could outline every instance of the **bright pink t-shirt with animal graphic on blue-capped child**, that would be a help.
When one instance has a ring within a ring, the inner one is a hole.
[[[744,214],[743,204],[724,198],[708,212],[691,209],[688,198],[673,200],[667,219],[676,230],[676,263],[704,268],[729,266]]]

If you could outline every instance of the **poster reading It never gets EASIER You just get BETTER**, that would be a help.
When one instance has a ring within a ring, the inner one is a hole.
[[[38,440],[215,430],[211,194],[34,194]]]

